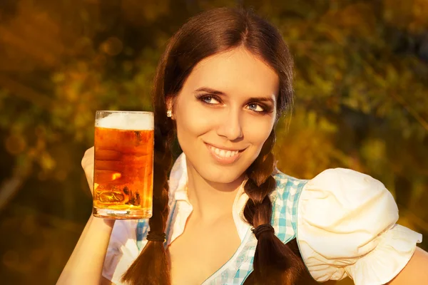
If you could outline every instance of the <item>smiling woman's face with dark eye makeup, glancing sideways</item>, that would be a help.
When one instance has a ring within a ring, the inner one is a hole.
[[[173,100],[178,142],[210,182],[242,178],[275,123],[279,78],[245,48],[200,61]]]

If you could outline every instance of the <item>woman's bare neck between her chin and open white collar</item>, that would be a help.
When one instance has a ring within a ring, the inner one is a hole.
[[[231,216],[233,202],[245,175],[230,183],[218,183],[205,180],[189,163],[187,170],[188,199],[193,206],[193,217],[203,222],[215,222]]]

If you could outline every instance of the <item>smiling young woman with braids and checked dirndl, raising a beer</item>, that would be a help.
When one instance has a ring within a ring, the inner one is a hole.
[[[422,235],[396,224],[381,182],[276,169],[275,125],[292,96],[277,29],[235,9],[190,19],[154,81],[153,217],[91,217],[58,284],[428,284]],[[183,153],[170,170],[175,135]],[[93,149],[82,165],[92,185]]]

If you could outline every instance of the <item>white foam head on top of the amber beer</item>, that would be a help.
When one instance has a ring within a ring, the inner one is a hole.
[[[115,112],[95,122],[96,127],[118,130],[153,130],[153,113]]]

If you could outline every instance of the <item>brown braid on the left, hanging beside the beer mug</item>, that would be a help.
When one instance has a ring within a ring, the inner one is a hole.
[[[167,48],[168,50],[168,48]],[[170,145],[175,137],[174,123],[166,116],[163,77],[166,54],[159,63],[155,76],[153,103],[155,115],[155,146],[153,162],[153,216],[149,219],[150,232],[155,237],[165,233],[168,219],[168,172],[172,165]],[[149,240],[121,279],[131,285],[169,285],[170,257],[163,242]]]

